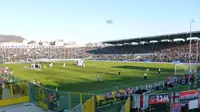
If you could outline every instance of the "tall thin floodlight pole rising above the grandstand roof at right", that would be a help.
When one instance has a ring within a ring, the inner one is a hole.
[[[189,73],[188,73],[188,90],[190,89],[190,75],[191,75],[191,50],[192,50],[192,23],[194,23],[194,19],[190,20],[190,44],[189,44]]]

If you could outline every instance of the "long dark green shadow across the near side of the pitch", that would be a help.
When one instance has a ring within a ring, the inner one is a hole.
[[[160,78],[164,78],[164,77],[168,77],[169,75],[165,75],[163,77]],[[95,77],[94,77],[95,78]],[[101,80],[100,82],[97,82],[95,79],[91,80],[91,79],[86,79],[83,77],[79,78],[79,81],[75,81],[74,82],[67,82],[64,80],[56,80],[54,81],[54,83],[57,84],[57,86],[55,85],[45,85],[49,88],[52,88],[55,90],[55,88],[58,88],[58,90],[62,90],[62,91],[70,91],[70,92],[88,92],[88,91],[100,91],[97,92],[97,94],[104,94],[106,91],[108,90],[113,90],[113,88],[115,90],[118,90],[117,88],[120,87],[120,89],[127,89],[129,87],[134,87],[134,86],[138,86],[138,85],[143,85],[146,84],[148,82],[145,82],[143,77],[138,77],[138,76],[120,76],[118,78],[118,76],[113,76],[114,79],[110,79],[110,80]],[[80,81],[81,79],[81,81]],[[149,77],[147,81],[150,80],[154,80],[156,81],[157,79],[155,79],[155,77]],[[138,84],[138,85],[137,85]],[[128,86],[127,86],[128,85]],[[115,88],[116,87],[116,88]],[[105,89],[108,88],[108,89]],[[111,89],[112,88],[112,89]]]

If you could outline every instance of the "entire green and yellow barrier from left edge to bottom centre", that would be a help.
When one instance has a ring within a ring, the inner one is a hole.
[[[0,78],[7,78],[10,84],[0,85],[0,106],[8,106],[24,102],[34,102],[44,110],[48,110],[49,95],[54,99],[55,110],[72,110],[79,104],[83,105],[83,112],[94,112],[95,96],[93,94],[58,91],[23,81],[12,75],[1,74]]]

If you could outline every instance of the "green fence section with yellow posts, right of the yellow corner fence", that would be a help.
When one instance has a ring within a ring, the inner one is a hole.
[[[29,83],[30,99],[35,102],[44,110],[50,108],[49,97],[53,96],[53,110],[72,110],[79,104],[84,104],[90,109],[94,109],[95,101],[94,96],[91,94],[75,93],[75,92],[65,92],[53,89],[48,89],[44,87],[37,86],[35,84]],[[88,100],[89,99],[89,100]],[[83,107],[84,107],[83,106]],[[87,109],[86,109],[87,110]],[[86,111],[94,112],[94,111]]]

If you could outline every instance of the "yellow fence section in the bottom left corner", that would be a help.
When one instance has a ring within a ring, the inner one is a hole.
[[[20,82],[0,87],[0,106],[29,102],[28,84]]]

